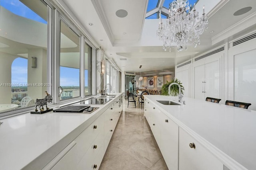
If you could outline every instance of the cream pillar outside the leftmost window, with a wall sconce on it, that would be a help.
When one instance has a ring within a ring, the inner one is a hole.
[[[32,58],[36,57],[37,66],[32,68]],[[45,49],[28,50],[28,96],[34,100],[42,99],[47,91],[47,51]],[[50,70],[50,69],[49,69]],[[43,86],[38,86],[39,84]]]

